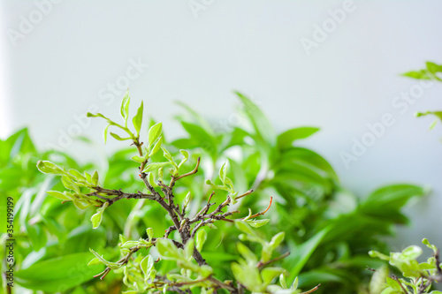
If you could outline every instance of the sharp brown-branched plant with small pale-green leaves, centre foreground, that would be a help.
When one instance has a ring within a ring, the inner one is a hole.
[[[191,193],[188,192],[186,199],[180,204],[175,199],[175,191],[179,189],[180,179],[192,177],[198,171],[200,158],[197,159],[194,170],[185,172],[182,166],[187,162],[189,154],[184,149],[179,150],[182,159],[180,162],[176,162],[171,153],[162,146],[161,123],[150,127],[146,144],[143,144],[140,140],[143,105],[141,102],[140,109],[133,117],[135,132],[132,132],[127,126],[129,102],[130,98],[127,93],[121,104],[121,116],[124,119],[124,124],[118,124],[102,114],[88,113],[88,117],[103,117],[107,121],[108,126],[104,131],[105,137],[110,126],[115,126],[120,131],[126,132],[125,137],[114,132],[110,132],[110,135],[121,141],[132,141],[131,145],[136,147],[138,155],[133,156],[132,159],[134,162],[140,163],[138,170],[141,180],[146,186],[146,192],[123,192],[121,189],[104,188],[99,184],[96,171],[90,175],[88,172],[65,170],[49,161],[37,163],[38,169],[43,173],[61,176],[63,185],[68,189],[65,192],[50,191],[48,193],[51,196],[63,201],[72,201],[80,209],[91,206],[98,207],[95,215],[92,215],[90,219],[94,229],[97,229],[102,222],[105,209],[118,200],[151,200],[163,207],[164,215],[170,217],[173,224],[165,230],[163,235],[155,234],[152,228],[146,230],[147,237],[141,237],[138,240],[126,240],[125,236],[120,235],[119,249],[123,257],[116,262],[105,260],[102,255],[90,249],[95,258],[89,262],[89,265],[103,264],[105,266],[105,269],[95,277],[103,279],[111,270],[122,272],[124,274],[123,282],[128,289],[124,291],[126,294],[145,293],[146,291],[149,293],[156,291],[185,293],[194,288],[201,290],[202,293],[212,293],[218,289],[228,290],[231,293],[243,293],[245,290],[254,293],[300,293],[301,291],[297,290],[297,283],[293,283],[290,289],[287,288],[284,268],[270,267],[273,262],[285,257],[284,255],[275,256],[274,253],[284,239],[284,232],[279,232],[271,237],[271,240],[265,240],[258,231],[252,229],[252,227],[259,228],[268,222],[268,220],[255,218],[265,214],[271,207],[271,203],[263,212],[252,214],[249,209],[248,216],[230,218],[240,212],[227,210],[227,208],[253,191],[249,190],[239,195],[234,190],[232,180],[227,177],[224,164],[219,170],[219,179],[222,185],[212,184],[213,189],[227,192],[224,200],[215,209],[211,209],[216,205],[215,201],[211,201],[216,192],[211,192],[208,195],[207,203],[202,206],[201,210],[194,214],[189,213],[188,211],[194,210]],[[152,157],[160,150],[163,151],[164,160],[158,162],[152,160]],[[170,167],[168,172],[164,172],[165,167]],[[207,239],[207,232],[203,227],[217,229],[214,222],[220,221],[234,222],[242,232],[240,235],[242,241],[262,246],[261,254],[257,257],[247,245],[237,244],[238,252],[242,258],[232,263],[232,275],[236,281],[217,279],[213,268],[202,257],[202,246]],[[178,232],[179,238],[169,238],[171,232],[175,231]],[[150,253],[153,247],[156,248],[156,252]],[[156,259],[156,257],[158,258]],[[158,267],[156,263],[164,260],[169,261],[170,267],[175,269],[161,270],[161,267]],[[280,285],[274,283],[277,278]]]

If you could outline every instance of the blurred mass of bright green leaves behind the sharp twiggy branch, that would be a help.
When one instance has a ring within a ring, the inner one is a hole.
[[[408,200],[423,196],[423,189],[416,185],[389,185],[357,198],[339,184],[329,162],[313,150],[301,147],[301,140],[309,138],[317,128],[275,132],[254,102],[243,94],[238,96],[241,104],[237,114],[244,124],[225,127],[210,124],[181,103],[185,111],[177,118],[186,134],[173,141],[163,138],[163,144],[173,156],[179,156],[179,149],[192,150],[185,169],[191,170],[198,156],[202,156],[202,165],[194,177],[182,179],[176,191],[177,201],[185,200],[190,191],[196,205],[188,209],[194,212],[202,207],[211,192],[211,186],[204,183],[209,179],[213,185],[222,185],[217,170],[228,161],[226,172],[235,190],[255,190],[235,208],[260,211],[268,206],[269,196],[273,196],[273,205],[266,214],[271,222],[262,231],[266,238],[281,230],[286,232],[281,254],[290,252],[290,255],[281,262],[284,268],[291,268],[288,283],[293,283],[299,275],[301,288],[310,289],[321,283],[318,290],[321,293],[358,291],[368,281],[367,266],[378,268],[382,264],[370,259],[367,253],[388,250],[384,237],[392,234],[393,225],[408,222],[401,208]],[[110,155],[109,168],[101,170],[101,184],[128,192],[142,189],[138,163],[130,159],[133,155],[136,155],[133,148]],[[159,162],[160,158],[155,156],[163,155],[153,155],[154,162]],[[18,293],[26,293],[25,289],[75,294],[121,292],[125,286],[120,274],[110,273],[104,281],[92,278],[103,266],[85,267],[94,257],[89,248],[104,253],[107,260],[114,260],[118,258],[119,234],[136,239],[145,236],[146,228],[164,231],[171,223],[159,207],[149,205],[146,200],[125,200],[108,207],[100,228],[93,230],[89,220],[95,209],[79,210],[47,197],[45,191],[63,192],[64,188],[59,179],[45,177],[36,169],[38,160],[50,160],[66,169],[88,170],[91,174],[98,169],[92,162],[80,165],[65,153],[36,150],[27,129],[0,141],[0,192],[15,202],[14,290]],[[214,198],[221,200],[225,194],[217,192]],[[4,215],[6,200],[0,203],[0,209]],[[4,223],[1,225],[1,231],[5,232]],[[218,279],[232,278],[230,264],[239,259],[238,230],[223,222],[208,235],[202,255],[210,260]],[[4,234],[2,259],[6,253],[5,239]],[[254,251],[253,244],[248,247]]]

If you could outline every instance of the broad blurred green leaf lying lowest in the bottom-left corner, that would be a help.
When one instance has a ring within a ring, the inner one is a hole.
[[[35,262],[15,273],[16,282],[27,289],[65,292],[93,279],[103,265],[88,267],[90,253],[74,253]]]

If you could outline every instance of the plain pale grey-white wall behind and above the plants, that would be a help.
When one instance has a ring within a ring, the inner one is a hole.
[[[224,124],[235,117],[232,90],[239,90],[253,97],[278,131],[321,127],[302,144],[324,155],[357,195],[396,182],[430,186],[433,193],[408,208],[412,225],[400,228],[393,244],[400,250],[431,237],[442,245],[442,127],[429,132],[432,119],[414,117],[440,109],[442,84],[426,89],[403,113],[392,105],[418,85],[401,72],[420,69],[427,60],[442,64],[442,2],[357,2],[310,54],[301,38],[312,39],[315,26],[330,19],[330,9],[342,9],[343,1],[47,3],[0,4],[3,138],[28,125],[45,148],[59,145],[61,133],[72,131],[74,117],[83,117],[91,105],[117,117],[122,94],[112,94],[110,105],[101,94],[110,93],[109,83],[124,81],[130,60],[140,60],[149,67],[130,81],[131,111],[143,100],[145,113],[163,121],[171,137],[182,133],[172,119],[180,112],[174,101]],[[192,11],[189,4],[204,9]],[[33,18],[29,32],[20,33]],[[385,113],[394,124],[347,169],[339,154],[350,153],[353,139],[362,139],[367,124]],[[80,132],[101,145],[103,127],[95,119]],[[80,144],[66,146],[72,154],[94,154]]]

